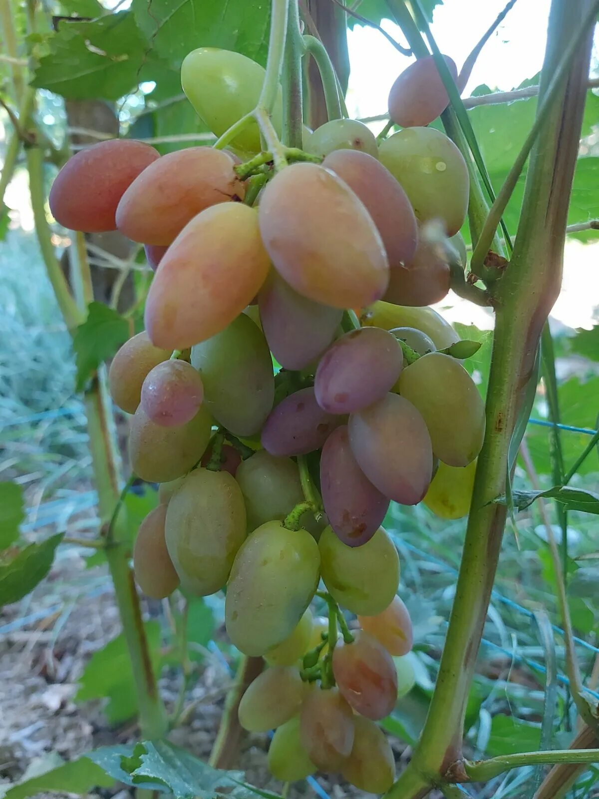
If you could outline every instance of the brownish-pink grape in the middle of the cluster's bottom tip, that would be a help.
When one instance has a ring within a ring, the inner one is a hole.
[[[337,688],[311,690],[300,713],[300,737],[321,771],[339,771],[354,744],[354,714]]]

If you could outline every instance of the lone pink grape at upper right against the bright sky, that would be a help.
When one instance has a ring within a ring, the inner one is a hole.
[[[458,70],[454,61],[444,55],[454,81]],[[411,128],[430,125],[449,105],[449,96],[433,56],[419,58],[399,75],[389,93],[389,116],[395,125]]]

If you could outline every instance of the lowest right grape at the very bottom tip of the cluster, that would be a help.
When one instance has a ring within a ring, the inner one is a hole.
[[[368,718],[355,716],[354,725],[354,745],[341,773],[362,791],[385,793],[395,780],[395,757],[389,741]]]

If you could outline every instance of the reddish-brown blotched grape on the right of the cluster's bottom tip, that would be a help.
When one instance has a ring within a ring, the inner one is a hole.
[[[353,643],[335,646],[333,674],[339,691],[356,713],[378,721],[395,707],[397,672],[393,658],[363,630],[355,633]]]

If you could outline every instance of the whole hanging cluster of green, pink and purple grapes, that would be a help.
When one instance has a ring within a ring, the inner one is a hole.
[[[196,50],[182,68],[217,135],[252,110],[263,78],[224,50]],[[470,502],[482,400],[447,351],[458,336],[426,308],[466,263],[466,163],[426,126],[446,104],[422,59],[391,89],[399,133],[377,145],[355,120],[306,129],[289,165],[261,165],[268,182],[251,203],[254,123],[231,150],[94,145],[50,193],[62,225],[118,229],[155,269],[145,332],[109,372],[133,414],[133,471],[160,483],[137,582],[155,598],[226,589],[229,637],[269,665],[240,722],[276,729],[268,761],[285,781],[323,769],[373,793],[391,785],[375,721],[395,705],[393,658],[412,633],[381,525],[391,501],[424,500],[444,518]],[[311,616],[321,580],[328,620]]]

